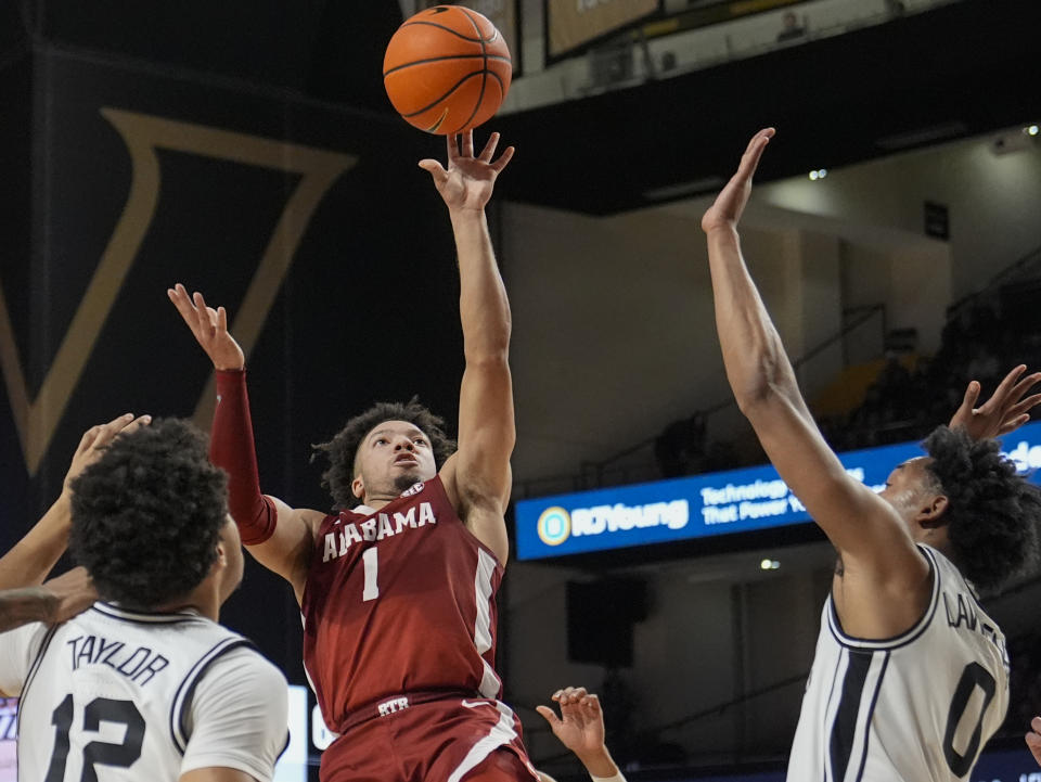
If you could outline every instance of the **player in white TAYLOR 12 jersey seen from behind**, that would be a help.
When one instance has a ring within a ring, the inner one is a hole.
[[[268,782],[287,742],[285,679],[217,624],[243,566],[226,476],[189,423],[117,421],[68,485],[67,528],[41,521],[21,561],[4,557],[35,578],[52,554],[23,554],[67,538],[101,595],[63,624],[0,634],[20,779]]]

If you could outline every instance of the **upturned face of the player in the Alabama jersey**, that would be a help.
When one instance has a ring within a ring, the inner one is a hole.
[[[429,438],[408,421],[384,421],[358,449],[358,475],[367,497],[395,496],[437,475]],[[356,491],[358,479],[356,478]]]

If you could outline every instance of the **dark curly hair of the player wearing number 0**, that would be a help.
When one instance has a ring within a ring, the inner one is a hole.
[[[926,465],[947,497],[953,560],[978,589],[992,592],[1036,564],[1041,492],[1016,475],[997,440],[938,426],[923,444]]]

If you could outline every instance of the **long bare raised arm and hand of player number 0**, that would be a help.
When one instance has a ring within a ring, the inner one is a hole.
[[[781,477],[839,552],[835,606],[847,632],[891,638],[922,615],[928,564],[895,509],[846,474],[817,427],[792,363],[748,273],[737,225],[772,128],[748,143],[737,172],[702,218],[727,379]]]

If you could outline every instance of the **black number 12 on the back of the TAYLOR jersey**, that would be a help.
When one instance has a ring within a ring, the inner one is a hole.
[[[83,747],[83,773],[80,782],[98,782],[94,764],[115,768],[130,768],[141,757],[144,743],[144,718],[131,701],[95,697],[83,709],[83,730],[97,732],[102,722],[126,726],[121,744],[92,741]],[[66,695],[51,715],[54,726],[54,753],[43,782],[64,782],[68,762],[68,731],[73,727],[73,696]]]

